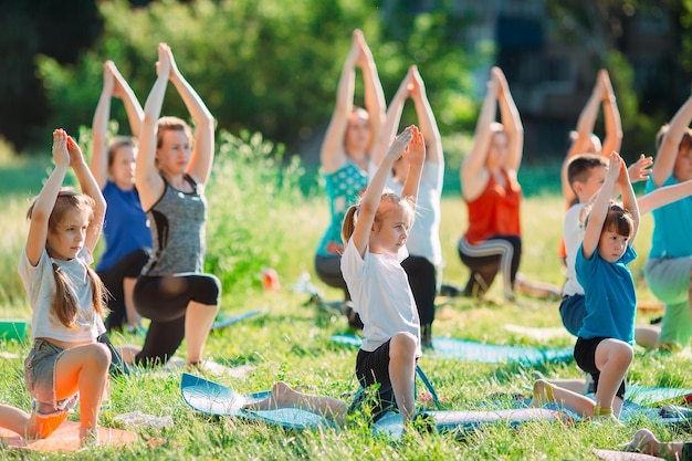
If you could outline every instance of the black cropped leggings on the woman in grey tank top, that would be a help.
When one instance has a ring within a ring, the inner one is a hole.
[[[135,285],[135,307],[151,323],[144,347],[135,356],[135,365],[168,362],[185,338],[185,314],[189,303],[217,306],[220,295],[221,283],[211,274],[141,275]]]

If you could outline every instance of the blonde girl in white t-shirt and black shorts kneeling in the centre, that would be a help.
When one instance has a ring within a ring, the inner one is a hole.
[[[386,191],[385,182],[402,155],[410,170],[399,197]],[[406,128],[389,147],[360,202],[350,207],[344,219],[342,269],[365,335],[356,375],[363,388],[379,384],[371,412],[375,420],[398,407],[403,420],[410,421],[416,410],[413,378],[421,355],[420,323],[401,261],[408,255],[406,239],[424,159],[422,134],[415,126]],[[304,408],[344,423],[346,415],[361,404],[356,398],[349,408],[340,400],[305,395],[277,383],[270,397],[247,408]]]

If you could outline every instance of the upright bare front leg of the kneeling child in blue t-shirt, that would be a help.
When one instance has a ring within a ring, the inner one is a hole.
[[[600,370],[596,407],[612,409],[615,395],[633,358],[632,347],[618,339],[605,339],[596,347],[596,367]]]

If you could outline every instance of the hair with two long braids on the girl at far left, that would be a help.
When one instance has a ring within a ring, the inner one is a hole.
[[[27,211],[27,218],[31,219],[33,214],[33,208],[35,200],[29,207]],[[55,206],[51,211],[51,216],[48,222],[48,230],[52,232],[55,227],[64,219],[65,214],[73,210],[86,210],[88,211],[88,220],[94,218],[95,202],[90,196],[77,192],[73,188],[62,188],[55,199]],[[86,269],[86,275],[90,279],[92,285],[92,305],[94,311],[103,316],[106,314],[106,295],[107,291],[96,272],[84,264]],[[65,274],[57,264],[53,263],[53,277],[55,280],[55,296],[51,303],[51,312],[57,317],[57,319],[66,328],[75,328],[75,323],[78,314],[77,301],[74,298],[70,291],[72,281],[70,276]]]

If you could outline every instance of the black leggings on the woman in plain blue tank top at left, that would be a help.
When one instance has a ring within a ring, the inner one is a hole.
[[[139,248],[120,258],[107,270],[98,272],[98,276],[111,294],[108,297],[108,310],[111,312],[105,321],[107,332],[123,329],[123,325],[127,321],[123,283],[125,279],[137,279],[141,268],[148,260],[149,254],[147,250]]]

